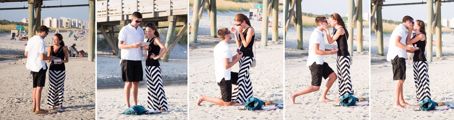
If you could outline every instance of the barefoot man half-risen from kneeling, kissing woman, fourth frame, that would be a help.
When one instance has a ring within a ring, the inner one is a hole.
[[[329,78],[326,82],[326,88],[323,94],[320,97],[320,102],[331,101],[330,99],[326,98],[326,93],[330,90],[331,86],[333,85],[334,81],[336,80],[337,76],[334,73],[333,69],[328,66],[326,62],[323,61],[324,55],[332,55],[337,53],[338,50],[329,50],[325,49],[325,40],[323,39],[323,27],[328,25],[328,21],[323,16],[319,16],[315,19],[315,23],[317,28],[311,34],[310,44],[309,44],[309,56],[307,57],[307,66],[309,66],[309,70],[311,70],[311,77],[312,77],[312,85],[306,88],[301,89],[300,91],[293,92],[290,94],[290,100],[292,104],[295,104],[295,98],[311,93],[316,92],[320,89],[321,79]]]

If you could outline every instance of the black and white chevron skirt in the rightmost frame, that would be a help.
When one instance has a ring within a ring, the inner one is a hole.
[[[427,61],[413,62],[413,76],[415,78],[416,99],[418,102],[425,98],[430,99],[429,74]]]

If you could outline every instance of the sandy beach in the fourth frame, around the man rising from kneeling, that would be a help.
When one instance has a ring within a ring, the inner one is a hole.
[[[330,28],[331,29],[331,28]],[[318,102],[323,90],[325,89],[326,80],[322,80],[320,90],[296,97],[296,105],[291,104],[288,95],[311,85],[311,74],[306,66],[309,48],[309,38],[314,28],[303,28],[303,47],[304,50],[296,49],[296,31],[295,28],[289,28],[286,36],[286,60],[285,60],[285,119],[369,119],[369,106],[359,106],[348,108],[339,105],[339,102]],[[356,29],[355,29],[356,30]],[[363,33],[369,33],[369,28],[364,28]],[[356,32],[355,32],[356,33]],[[357,42],[353,46],[353,65],[350,66],[350,76],[354,90],[354,96],[366,98],[369,100],[369,36],[364,34],[363,52],[356,51]],[[327,44],[325,38],[325,47],[331,49],[337,46],[337,43]],[[351,52],[350,52],[351,53]],[[336,71],[336,54],[325,55],[325,62]],[[333,84],[326,97],[336,100],[339,97],[339,83]]]

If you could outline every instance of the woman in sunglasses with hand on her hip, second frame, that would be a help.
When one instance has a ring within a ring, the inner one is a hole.
[[[167,97],[164,92],[163,80],[161,78],[161,65],[158,59],[163,56],[167,49],[159,39],[159,32],[153,23],[145,24],[145,33],[148,37],[145,42],[150,42],[148,47],[143,47],[148,51],[145,55],[145,71],[147,76],[148,88],[148,109],[159,110],[161,112],[167,111]],[[161,53],[159,53],[160,50]]]

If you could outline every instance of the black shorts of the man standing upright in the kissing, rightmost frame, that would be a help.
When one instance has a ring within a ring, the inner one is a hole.
[[[405,70],[407,69],[405,58],[396,55],[391,60],[391,64],[393,65],[393,80],[405,79]]]

